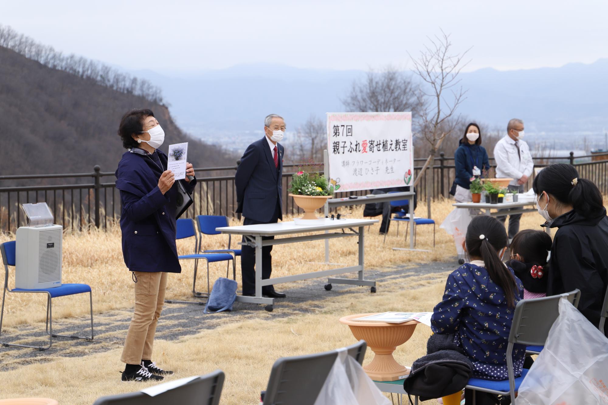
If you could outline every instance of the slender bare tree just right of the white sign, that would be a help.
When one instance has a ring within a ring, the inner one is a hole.
[[[441,142],[458,125],[460,119],[455,111],[466,97],[466,90],[458,87],[458,74],[468,64],[463,58],[469,52],[452,54],[450,35],[441,30],[441,36],[429,38],[430,44],[424,46],[416,59],[410,55],[414,72],[426,83],[421,88],[418,134],[429,143],[430,153],[414,185],[418,184],[429,163],[434,159]],[[408,53],[409,55],[409,53]],[[449,92],[449,100],[446,93]]]

